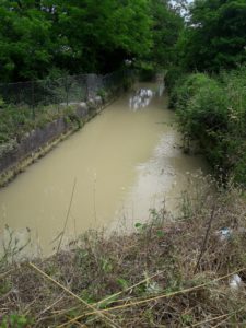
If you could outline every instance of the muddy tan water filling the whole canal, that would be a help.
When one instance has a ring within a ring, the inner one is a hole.
[[[165,200],[175,210],[187,172],[206,169],[185,155],[163,85],[141,84],[0,190],[1,245],[31,236],[28,254],[56,249],[89,229],[133,226]],[[120,224],[121,224],[120,223]],[[2,246],[1,246],[2,247]],[[17,248],[16,247],[16,248]]]

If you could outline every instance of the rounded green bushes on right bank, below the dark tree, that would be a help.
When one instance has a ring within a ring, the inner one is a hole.
[[[197,140],[215,172],[246,186],[246,68],[180,79],[171,102],[184,138]]]

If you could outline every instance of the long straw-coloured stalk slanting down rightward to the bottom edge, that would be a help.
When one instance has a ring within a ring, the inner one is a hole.
[[[42,271],[39,268],[37,268],[34,263],[30,262],[30,266],[36,270],[37,272],[39,272],[43,277],[45,277],[46,279],[48,279],[49,281],[51,281],[52,283],[55,283],[56,285],[58,285],[59,288],[61,288],[63,291],[66,291],[68,294],[70,294],[71,296],[73,296],[74,298],[77,298],[78,301],[80,301],[81,303],[83,303],[85,306],[87,306],[89,308],[93,309],[94,314],[97,314],[98,316],[101,316],[104,320],[106,320],[106,323],[108,323],[110,325],[110,327],[117,327],[120,328],[117,324],[115,324],[110,318],[108,318],[107,316],[105,316],[104,314],[102,314],[99,311],[97,311],[93,305],[87,304],[83,298],[79,297],[78,295],[75,295],[73,292],[71,292],[70,290],[68,290],[66,286],[63,286],[61,283],[59,283],[58,281],[56,281],[55,279],[52,279],[51,277],[49,277],[48,274],[46,274],[44,271]]]

